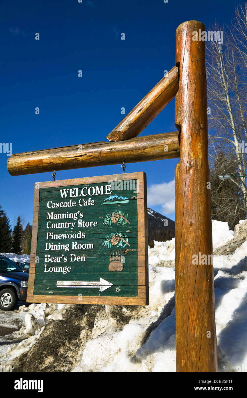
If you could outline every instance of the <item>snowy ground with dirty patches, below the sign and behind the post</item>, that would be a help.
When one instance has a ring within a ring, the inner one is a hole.
[[[235,237],[225,222],[212,220],[212,227],[218,371],[247,372],[247,220],[235,227]],[[154,242],[149,249],[149,306],[87,306],[77,321],[79,346],[68,371],[176,371],[174,260],[175,238]],[[19,329],[0,337],[0,364],[13,367],[28,352],[26,362],[31,361],[32,347],[42,343],[46,326],[52,330],[58,320],[65,322],[72,307],[52,304],[47,309],[45,304],[31,304],[11,314],[0,312],[0,326]],[[95,315],[89,327],[87,314],[92,308]],[[68,359],[72,354],[70,343],[66,345],[58,351]],[[47,364],[53,365],[52,371],[60,371],[54,353],[43,359],[39,355],[44,365],[37,371],[45,371]]]

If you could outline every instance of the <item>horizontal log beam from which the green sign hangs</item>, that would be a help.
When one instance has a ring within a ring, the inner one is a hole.
[[[93,145],[94,144],[94,145]],[[179,158],[178,131],[122,142],[94,142],[13,154],[7,168],[12,176],[84,167]],[[167,145],[165,150],[164,145]]]

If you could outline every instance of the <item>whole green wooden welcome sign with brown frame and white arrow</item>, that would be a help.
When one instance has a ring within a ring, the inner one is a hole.
[[[143,172],[35,183],[28,302],[148,304]]]

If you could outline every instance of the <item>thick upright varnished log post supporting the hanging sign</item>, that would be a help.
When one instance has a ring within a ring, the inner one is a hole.
[[[176,30],[176,363],[177,372],[217,372],[203,23]],[[204,255],[204,256],[203,256]],[[206,255],[206,256],[205,256]],[[206,260],[205,260],[206,259]]]

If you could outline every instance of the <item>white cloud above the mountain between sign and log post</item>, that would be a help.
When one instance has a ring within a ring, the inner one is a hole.
[[[162,205],[166,214],[175,212],[175,180],[147,187],[148,206]]]

